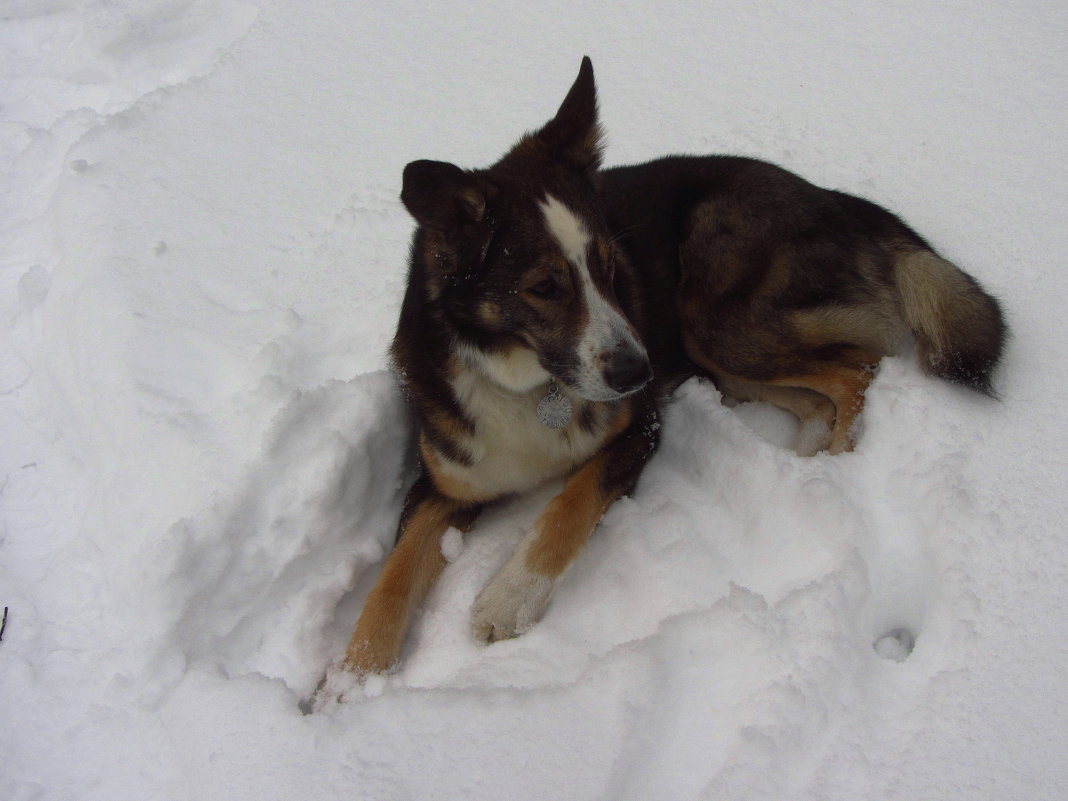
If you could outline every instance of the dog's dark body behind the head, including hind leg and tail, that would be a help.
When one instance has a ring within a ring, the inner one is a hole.
[[[906,330],[931,373],[991,393],[998,302],[884,208],[731,156],[608,170],[603,187],[654,304],[654,362],[685,372],[685,352],[729,394],[822,419],[799,451],[851,446],[854,398]]]

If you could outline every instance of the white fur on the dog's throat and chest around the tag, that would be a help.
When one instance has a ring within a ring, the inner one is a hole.
[[[467,485],[473,497],[488,500],[531,489],[588,459],[604,434],[599,426],[591,434],[580,424],[578,412],[587,402],[568,395],[577,413],[563,428],[538,421],[537,405],[548,392],[548,380],[528,348],[503,355],[464,352],[452,387],[474,423],[474,434],[464,441],[473,464],[441,458],[438,469]],[[568,394],[563,387],[560,391]]]

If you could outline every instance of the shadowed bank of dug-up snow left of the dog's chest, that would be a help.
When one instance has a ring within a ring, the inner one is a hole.
[[[393,546],[408,430],[386,373],[297,395],[240,490],[168,532],[163,654],[313,688],[335,607]]]

